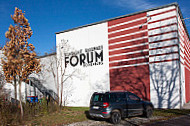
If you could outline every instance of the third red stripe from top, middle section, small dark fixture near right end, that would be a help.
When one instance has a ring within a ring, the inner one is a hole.
[[[108,38],[111,38],[111,37],[116,37],[116,36],[120,36],[120,35],[125,35],[125,34],[130,34],[130,33],[134,33],[134,32],[137,32],[137,31],[142,31],[142,30],[145,30],[147,29],[147,25],[142,27],[142,28],[133,28],[133,29],[129,29],[129,30],[125,30],[125,31],[120,31],[120,32],[116,32],[116,33],[113,33],[113,34],[109,34],[108,35]]]

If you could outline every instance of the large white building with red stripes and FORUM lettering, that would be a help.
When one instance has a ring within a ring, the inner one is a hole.
[[[155,108],[180,108],[190,101],[190,42],[182,19],[172,3],[58,32],[57,55],[39,57],[42,74],[33,77],[57,93],[49,66],[56,70],[59,62],[67,106],[89,106],[93,92],[127,90]]]

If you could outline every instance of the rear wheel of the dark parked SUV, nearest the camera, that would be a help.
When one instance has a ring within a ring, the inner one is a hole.
[[[113,124],[118,124],[121,121],[121,113],[117,110],[117,111],[113,111],[110,117],[110,121]]]

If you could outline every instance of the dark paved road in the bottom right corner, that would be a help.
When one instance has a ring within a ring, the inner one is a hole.
[[[190,115],[173,118],[166,121],[150,123],[144,126],[190,126]]]

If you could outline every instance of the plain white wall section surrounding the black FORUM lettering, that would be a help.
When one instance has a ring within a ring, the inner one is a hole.
[[[72,50],[82,50],[82,53],[87,48],[103,46],[103,65],[88,67],[80,65],[72,67],[68,65],[66,68],[68,69],[67,72],[77,70],[75,76],[64,84],[65,87],[70,88],[70,91],[65,88],[65,92],[70,92],[70,94],[68,93],[68,102],[66,104],[68,106],[89,106],[90,97],[94,91],[110,90],[107,23],[56,34],[58,48],[61,40],[68,41]],[[57,57],[60,57],[58,49]]]

